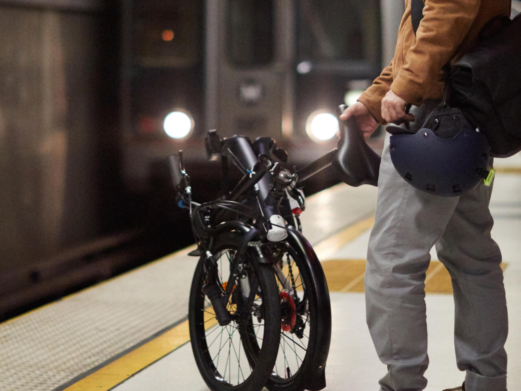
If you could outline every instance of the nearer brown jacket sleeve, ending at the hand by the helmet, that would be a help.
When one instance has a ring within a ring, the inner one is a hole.
[[[480,0],[425,0],[416,44],[391,84],[396,95],[415,106],[423,102],[465,38],[479,6]]]

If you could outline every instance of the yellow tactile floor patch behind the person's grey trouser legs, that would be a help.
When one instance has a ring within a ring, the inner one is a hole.
[[[363,292],[366,261],[363,259],[333,259],[322,262],[331,292]],[[501,264],[505,270],[506,263]],[[452,295],[449,272],[440,261],[431,261],[425,277],[427,294]]]

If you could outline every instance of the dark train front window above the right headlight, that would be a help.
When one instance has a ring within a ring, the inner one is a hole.
[[[302,0],[298,4],[297,46],[301,61],[379,63],[379,0]]]

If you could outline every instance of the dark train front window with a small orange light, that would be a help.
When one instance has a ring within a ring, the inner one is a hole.
[[[137,9],[140,65],[191,67],[201,55],[202,0],[142,0]]]

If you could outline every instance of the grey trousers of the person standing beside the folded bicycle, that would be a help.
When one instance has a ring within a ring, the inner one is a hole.
[[[508,322],[501,252],[490,237],[491,191],[482,182],[460,197],[413,188],[392,165],[387,135],[365,275],[367,325],[388,369],[381,391],[427,385],[424,287],[435,244],[452,279],[454,346],[457,368],[466,371],[466,390],[506,391]]]

